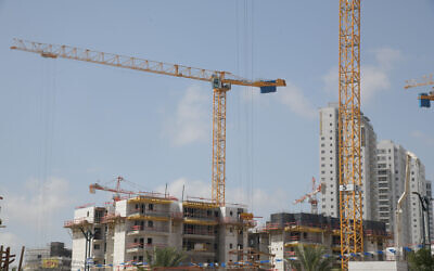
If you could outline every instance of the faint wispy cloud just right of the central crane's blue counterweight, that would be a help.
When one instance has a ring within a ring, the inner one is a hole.
[[[317,111],[309,99],[305,96],[298,87],[290,81],[286,81],[286,87],[279,88],[276,99],[301,117],[308,119],[317,117]]]

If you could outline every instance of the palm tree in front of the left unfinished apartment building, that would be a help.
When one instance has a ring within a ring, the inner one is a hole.
[[[146,250],[146,261],[151,269],[163,267],[178,267],[186,259],[186,255],[175,247],[154,247],[154,253],[150,254]],[[138,267],[138,270],[144,270]]]

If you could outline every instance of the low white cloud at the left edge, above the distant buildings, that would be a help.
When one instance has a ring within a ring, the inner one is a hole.
[[[54,177],[44,183],[37,179],[28,180],[18,194],[4,195],[5,222],[50,229],[56,224],[54,215],[72,203],[68,188],[66,180]]]

